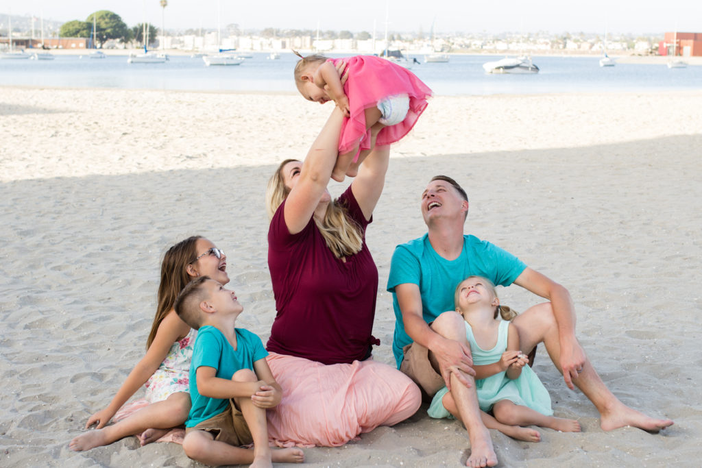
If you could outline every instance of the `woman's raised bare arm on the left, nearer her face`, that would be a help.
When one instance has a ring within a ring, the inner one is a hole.
[[[285,224],[291,234],[304,229],[326,192],[338,155],[343,114],[335,108],[303,162],[300,175],[285,202]]]

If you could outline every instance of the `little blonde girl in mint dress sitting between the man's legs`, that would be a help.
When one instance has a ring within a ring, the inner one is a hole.
[[[562,432],[580,432],[580,423],[554,417],[551,399],[541,380],[527,366],[519,350],[519,334],[510,322],[515,312],[500,307],[495,286],[489,279],[469,276],[456,288],[456,312],[465,319],[475,370],[475,389],[483,411],[492,410],[503,424],[550,427]],[[446,387],[434,396],[431,417],[457,415],[456,404]]]

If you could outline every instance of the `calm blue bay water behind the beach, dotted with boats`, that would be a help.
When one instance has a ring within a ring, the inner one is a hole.
[[[417,55],[422,60],[423,56]],[[412,71],[437,95],[609,93],[702,89],[702,67],[618,64],[601,68],[599,58],[536,57],[541,72],[485,74],[482,64],[498,57],[453,55],[449,63],[422,63]],[[238,67],[205,67],[201,58],[171,56],[163,64],[127,64],[126,55],[95,60],[57,55],[55,60],[0,60],[0,85],[71,88],[147,88],[187,91],[295,92],[296,57],[267,60],[255,53]]]

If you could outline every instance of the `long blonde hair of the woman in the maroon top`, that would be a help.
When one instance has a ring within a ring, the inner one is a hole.
[[[275,173],[268,180],[265,190],[265,203],[269,220],[273,218],[279,206],[290,194],[290,189],[283,180],[283,167],[293,161],[298,160],[286,159],[280,163]],[[363,231],[361,227],[348,217],[347,209],[341,206],[338,199],[327,205],[322,220],[314,218],[314,224],[317,225],[319,233],[324,237],[326,246],[336,258],[354,255],[363,248]]]

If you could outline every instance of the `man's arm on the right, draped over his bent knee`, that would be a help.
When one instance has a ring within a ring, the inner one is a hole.
[[[578,369],[583,368],[585,352],[575,336],[575,307],[570,293],[547,276],[534,269],[524,269],[515,280],[517,286],[522,286],[532,293],[550,300],[553,316],[558,326],[558,340],[561,350],[560,366],[563,378],[570,389],[573,389],[572,379],[578,376]]]

